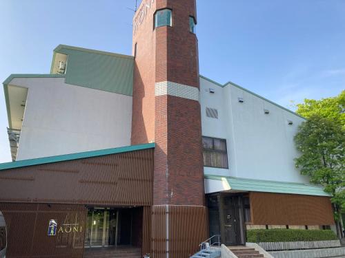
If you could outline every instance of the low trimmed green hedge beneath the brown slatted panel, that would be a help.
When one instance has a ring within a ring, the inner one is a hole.
[[[289,242],[289,241],[326,241],[337,240],[332,230],[303,229],[250,229],[247,230],[247,241],[259,242]]]

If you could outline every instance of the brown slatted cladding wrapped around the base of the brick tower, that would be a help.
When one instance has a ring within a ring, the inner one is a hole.
[[[152,252],[166,257],[166,205],[152,207]],[[206,237],[206,207],[168,206],[169,257],[188,258]]]

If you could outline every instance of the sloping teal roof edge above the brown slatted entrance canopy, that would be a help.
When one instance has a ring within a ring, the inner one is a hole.
[[[155,143],[131,145],[127,147],[119,147],[119,148],[113,148],[113,149],[102,149],[99,151],[86,151],[86,152],[72,153],[72,154],[66,154],[66,155],[57,155],[57,156],[46,157],[46,158],[35,158],[31,160],[19,160],[19,161],[0,164],[0,170],[16,169],[23,166],[34,166],[34,165],[39,165],[39,164],[48,164],[48,163],[61,162],[61,161],[67,161],[67,160],[79,160],[82,158],[91,158],[91,157],[98,157],[98,156],[103,156],[103,155],[124,153],[124,152],[129,152],[129,151],[139,151],[142,149],[152,149],[152,148],[155,148]]]

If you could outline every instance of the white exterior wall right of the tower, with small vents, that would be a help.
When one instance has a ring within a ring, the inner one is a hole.
[[[293,137],[303,118],[231,84],[220,87],[200,78],[200,89],[202,135],[224,138],[228,147],[229,169],[204,167],[205,174],[308,183],[293,161],[298,156]],[[206,107],[218,109],[218,119],[206,117]]]

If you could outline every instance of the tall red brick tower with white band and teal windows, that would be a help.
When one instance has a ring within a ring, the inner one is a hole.
[[[188,257],[206,237],[195,23],[195,0],[143,0],[133,19],[132,144],[156,143],[155,257]]]

